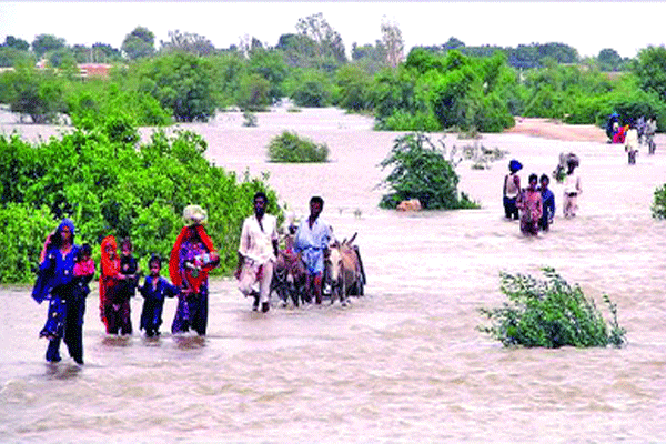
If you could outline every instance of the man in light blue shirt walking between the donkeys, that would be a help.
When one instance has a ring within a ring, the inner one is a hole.
[[[301,222],[296,230],[294,251],[301,253],[307,269],[307,292],[317,304],[322,303],[322,276],[324,255],[331,241],[331,229],[320,219],[324,200],[317,195],[310,199],[310,216]]]

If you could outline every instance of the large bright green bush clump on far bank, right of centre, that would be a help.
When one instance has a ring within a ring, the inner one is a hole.
[[[515,84],[516,75],[500,53],[476,59],[457,51],[435,56],[415,49],[397,72],[377,78],[377,128],[405,130],[411,115],[426,131],[498,132],[514,124],[507,103]]]

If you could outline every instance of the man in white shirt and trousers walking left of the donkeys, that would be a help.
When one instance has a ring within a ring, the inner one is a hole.
[[[239,290],[245,296],[254,297],[253,309],[270,309],[271,280],[273,264],[278,256],[278,221],[266,214],[268,198],[259,192],[254,195],[254,214],[243,222],[241,243],[239,246],[239,265],[235,275]],[[254,289],[259,283],[259,292]]]

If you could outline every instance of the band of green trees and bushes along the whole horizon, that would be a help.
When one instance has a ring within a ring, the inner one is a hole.
[[[133,125],[206,121],[230,107],[263,111],[284,97],[296,107],[374,115],[379,130],[497,132],[512,127],[514,115],[603,125],[613,112],[625,121],[655,115],[666,128],[663,47],[632,60],[612,49],[581,60],[563,43],[466,47],[451,38],[404,57],[400,29],[382,23],[382,39],[354,43],[350,61],[322,14],[300,19],[296,31],[275,47],[246,38],[224,50],[180,31],[157,50],[154,34],[142,27],[120,50],[70,48],[54,36],[38,36],[32,44],[8,37],[0,61],[13,54],[14,70],[0,75],[0,102],[34,122],[68,114],[83,128],[115,114]],[[81,80],[77,62],[85,57],[112,62],[109,77]],[[37,59],[47,60],[43,69]]]

